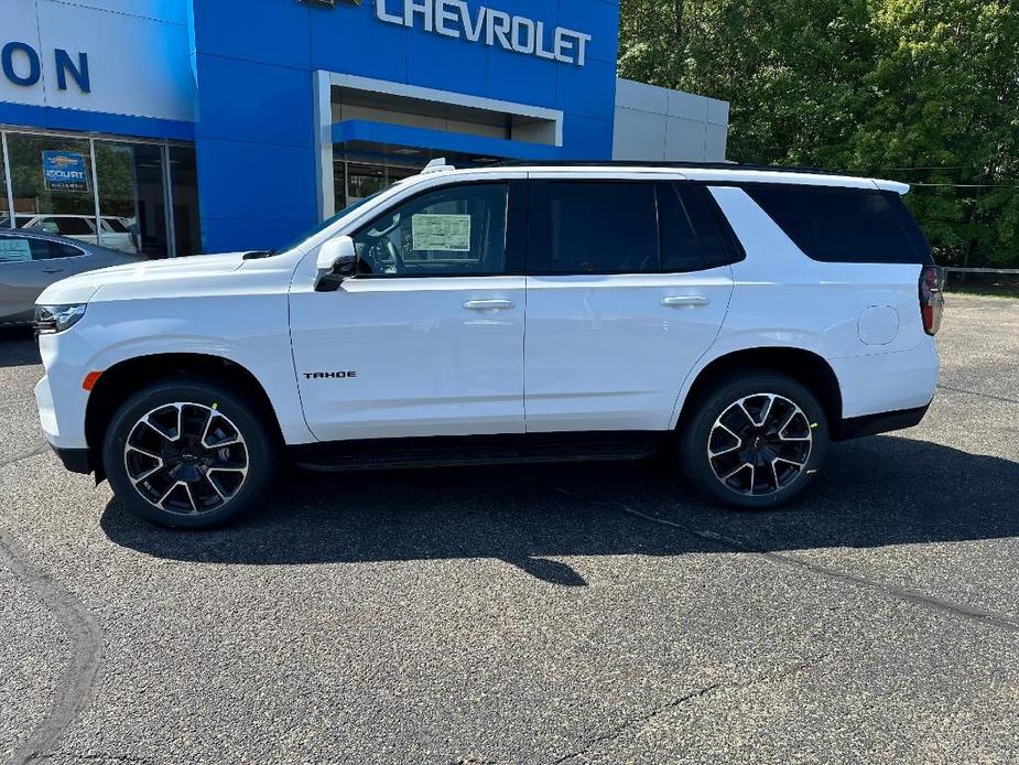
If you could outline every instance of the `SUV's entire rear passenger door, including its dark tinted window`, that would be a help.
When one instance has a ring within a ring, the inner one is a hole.
[[[532,183],[528,432],[668,429],[733,293],[704,191],[632,179]]]

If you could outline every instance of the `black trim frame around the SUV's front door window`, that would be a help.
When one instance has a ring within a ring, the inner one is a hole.
[[[435,192],[465,188],[469,186],[506,186],[506,268],[499,273],[358,273],[354,279],[494,279],[497,277],[522,277],[527,262],[527,216],[529,186],[525,179],[496,177],[477,181],[443,183],[423,188],[410,196],[401,197],[388,205],[383,211],[377,212],[367,223],[358,226],[348,234],[351,239],[371,228],[379,218],[388,215],[404,205],[411,204]]]

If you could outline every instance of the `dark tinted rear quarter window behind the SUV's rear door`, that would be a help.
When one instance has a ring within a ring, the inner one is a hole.
[[[931,247],[895,192],[747,185],[744,191],[813,260],[931,265]]]

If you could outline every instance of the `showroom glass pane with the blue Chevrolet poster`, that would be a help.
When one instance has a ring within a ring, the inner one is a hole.
[[[18,228],[76,229],[76,239],[97,243],[96,203],[88,141],[58,136],[8,133],[11,185]],[[48,216],[43,224],[40,216]]]

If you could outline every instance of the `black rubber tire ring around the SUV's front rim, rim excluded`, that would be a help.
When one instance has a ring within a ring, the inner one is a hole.
[[[124,446],[135,423],[148,412],[174,402],[200,403],[223,412],[241,432],[248,450],[248,475],[240,492],[221,508],[197,516],[161,510],[134,488],[124,466]],[[171,528],[208,528],[237,517],[261,496],[272,480],[275,442],[258,416],[257,409],[239,396],[214,381],[166,380],[131,396],[117,411],[106,431],[102,463],[117,498],[135,516]]]

